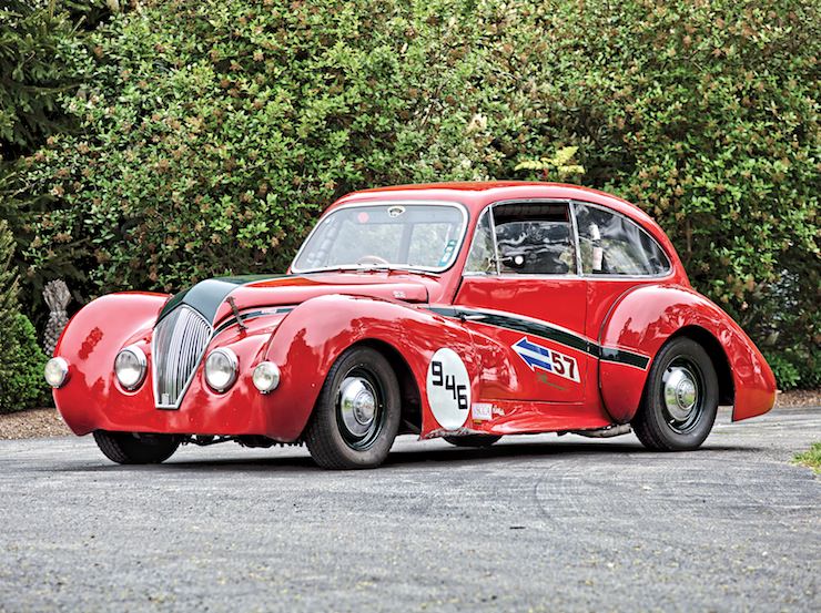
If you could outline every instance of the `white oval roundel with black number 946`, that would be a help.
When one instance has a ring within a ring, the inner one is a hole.
[[[462,428],[470,412],[470,378],[462,358],[443,347],[427,367],[427,400],[430,410],[446,430]]]

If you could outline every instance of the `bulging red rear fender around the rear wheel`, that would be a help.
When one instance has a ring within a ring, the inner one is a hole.
[[[686,327],[710,334],[721,346],[734,390],[732,419],[769,411],[776,401],[776,378],[767,360],[741,327],[717,305],[689,287],[640,286],[624,295],[606,318],[600,344],[641,353],[652,360],[661,346]],[[649,372],[605,358],[599,388],[614,419],[629,421],[638,409]]]

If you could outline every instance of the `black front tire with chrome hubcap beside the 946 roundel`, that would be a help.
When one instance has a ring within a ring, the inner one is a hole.
[[[305,443],[322,468],[375,468],[391,451],[401,412],[399,384],[387,359],[369,347],[352,347],[331,367]]]

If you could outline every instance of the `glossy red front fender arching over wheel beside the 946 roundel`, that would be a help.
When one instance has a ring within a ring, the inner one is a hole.
[[[290,313],[271,337],[266,358],[280,367],[280,387],[271,394],[281,410],[292,415],[293,438],[311,417],[328,370],[339,355],[357,343],[379,341],[404,358],[419,390],[423,436],[440,428],[425,390],[433,354],[447,347],[463,359],[478,394],[479,360],[469,333],[428,310],[388,300],[343,295],[312,298]],[[298,431],[297,431],[298,430]]]

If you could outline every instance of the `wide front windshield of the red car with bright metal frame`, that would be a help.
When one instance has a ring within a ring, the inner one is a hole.
[[[447,204],[345,206],[320,221],[294,272],[337,268],[448,268],[465,234],[465,212]]]

